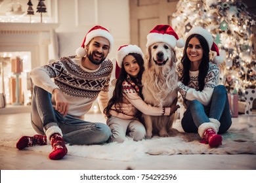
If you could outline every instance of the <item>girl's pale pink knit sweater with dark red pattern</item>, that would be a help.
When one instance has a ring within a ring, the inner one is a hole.
[[[170,107],[152,107],[151,105],[146,104],[139,96],[138,86],[135,85],[129,76],[127,77],[127,80],[123,81],[122,85],[124,96],[123,103],[120,105],[120,108],[112,106],[110,110],[112,116],[117,116],[123,120],[131,120],[135,118],[138,110],[151,116],[169,116],[171,112]],[[119,105],[116,105],[116,107],[118,106]]]

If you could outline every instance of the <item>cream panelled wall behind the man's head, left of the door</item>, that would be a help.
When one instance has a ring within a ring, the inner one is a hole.
[[[58,0],[59,56],[74,55],[85,34],[102,25],[114,36],[108,58],[114,58],[121,44],[129,44],[129,0]]]

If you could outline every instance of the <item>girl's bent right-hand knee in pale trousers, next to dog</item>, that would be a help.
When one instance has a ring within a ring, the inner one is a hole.
[[[138,120],[133,120],[128,126],[127,136],[133,138],[134,141],[141,141],[146,136],[146,129]]]

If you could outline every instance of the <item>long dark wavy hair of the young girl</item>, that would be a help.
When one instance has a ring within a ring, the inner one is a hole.
[[[142,73],[144,71],[144,60],[142,58],[142,56],[140,54],[135,54],[135,53],[131,53],[128,54],[133,56],[136,60],[137,63],[140,67],[140,71],[137,75],[137,78],[134,78],[133,76],[130,76],[132,82],[135,83],[136,86],[139,87],[139,96],[142,97],[142,84],[141,84],[141,78],[142,78]],[[110,118],[111,114],[110,114],[110,109],[112,108],[112,106],[114,105],[114,107],[116,108],[116,110],[118,112],[122,112],[121,111],[121,104],[123,103],[123,81],[127,80],[127,72],[125,71],[123,62],[122,62],[122,67],[121,67],[121,71],[119,73],[119,76],[117,78],[116,81],[116,87],[114,89],[113,92],[113,96],[110,99],[110,101],[108,101],[108,106],[104,109],[104,114]],[[143,98],[142,98],[143,99]],[[135,116],[137,118],[140,118],[140,112],[137,113],[137,115]]]

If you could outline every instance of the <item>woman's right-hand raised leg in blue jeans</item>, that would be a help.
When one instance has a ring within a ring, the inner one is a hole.
[[[218,133],[226,132],[232,124],[228,95],[223,85],[216,86],[213,90],[209,118],[216,119],[220,122],[221,125]]]

